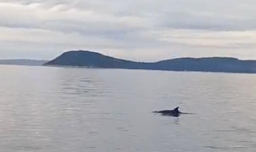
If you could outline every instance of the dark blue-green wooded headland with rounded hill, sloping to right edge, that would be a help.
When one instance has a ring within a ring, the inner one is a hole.
[[[233,57],[183,57],[157,62],[135,62],[93,51],[66,51],[43,65],[166,71],[256,73],[256,60],[240,60]]]

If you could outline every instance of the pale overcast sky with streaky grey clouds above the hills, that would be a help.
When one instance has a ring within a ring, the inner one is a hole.
[[[256,59],[256,0],[0,0],[0,58]]]

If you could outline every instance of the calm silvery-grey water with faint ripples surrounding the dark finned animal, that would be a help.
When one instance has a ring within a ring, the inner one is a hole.
[[[0,65],[0,152],[255,149],[253,74]]]

